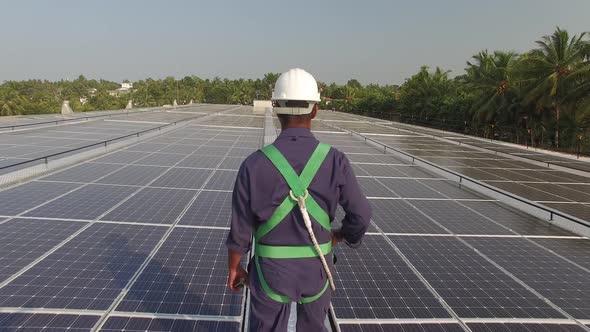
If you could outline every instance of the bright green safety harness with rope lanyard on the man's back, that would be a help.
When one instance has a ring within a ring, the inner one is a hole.
[[[264,290],[266,295],[268,295],[268,297],[277,302],[292,302],[292,299],[290,297],[277,294],[268,286],[268,283],[266,282],[262,274],[262,269],[260,268],[259,257],[274,259],[320,257],[322,259],[322,264],[324,265],[324,268],[327,269],[326,272],[328,273],[329,278],[328,280],[326,280],[326,284],[318,294],[310,297],[304,297],[299,301],[299,303],[301,304],[310,303],[319,299],[328,289],[328,286],[330,286],[330,284],[332,284],[333,288],[333,282],[331,281],[331,273],[329,271],[327,264],[325,263],[325,258],[323,257],[325,255],[328,255],[332,251],[332,241],[323,244],[317,244],[317,241],[315,241],[315,235],[313,235],[313,231],[311,231],[311,222],[309,220],[309,216],[307,216],[306,220],[306,223],[309,226],[308,232],[311,231],[310,237],[312,238],[312,242],[315,243],[317,245],[317,248],[321,250],[322,256],[320,256],[320,253],[318,253],[318,250],[314,245],[271,246],[261,244],[260,240],[266,234],[272,231],[275,227],[277,227],[297,205],[299,205],[299,207],[301,208],[302,214],[304,215],[304,219],[307,215],[307,212],[309,212],[309,214],[313,216],[314,220],[323,228],[325,228],[328,231],[332,230],[330,226],[330,217],[319,206],[319,204],[314,200],[314,198],[311,195],[309,195],[307,191],[307,188],[309,187],[311,181],[313,180],[320,166],[326,159],[326,156],[330,151],[330,146],[327,144],[319,143],[315,151],[313,152],[311,158],[307,162],[307,165],[305,165],[305,168],[301,172],[301,175],[299,176],[297,175],[293,167],[291,167],[287,159],[285,159],[283,154],[274,145],[267,145],[264,148],[262,148],[261,151],[281,173],[281,175],[289,185],[291,191],[289,192],[289,195],[285,197],[285,199],[279,205],[279,207],[273,212],[270,219],[268,219],[266,223],[260,225],[254,233],[254,261],[256,264],[256,271],[258,272],[258,278],[260,280],[262,289]]]

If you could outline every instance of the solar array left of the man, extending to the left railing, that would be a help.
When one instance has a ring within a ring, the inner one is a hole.
[[[262,143],[250,120],[205,117],[0,191],[0,330],[240,330],[224,238]]]

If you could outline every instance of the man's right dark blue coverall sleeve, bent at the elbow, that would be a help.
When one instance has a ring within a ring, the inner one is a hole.
[[[340,187],[340,205],[346,215],[342,220],[344,242],[352,248],[360,246],[361,239],[371,223],[371,206],[361,191],[348,158],[342,155],[344,183]]]

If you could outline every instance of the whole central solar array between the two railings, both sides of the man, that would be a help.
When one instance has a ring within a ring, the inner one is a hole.
[[[249,112],[0,191],[0,330],[240,331],[247,296],[227,290],[224,238],[237,169],[262,144]],[[339,330],[588,329],[590,240],[321,118],[316,136],[347,154],[373,209],[363,246],[335,249]]]

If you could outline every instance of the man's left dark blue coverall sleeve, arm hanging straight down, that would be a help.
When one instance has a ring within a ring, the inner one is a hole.
[[[247,167],[242,164],[232,194],[231,228],[225,245],[228,249],[245,254],[250,250],[254,214],[250,207],[250,181]]]

